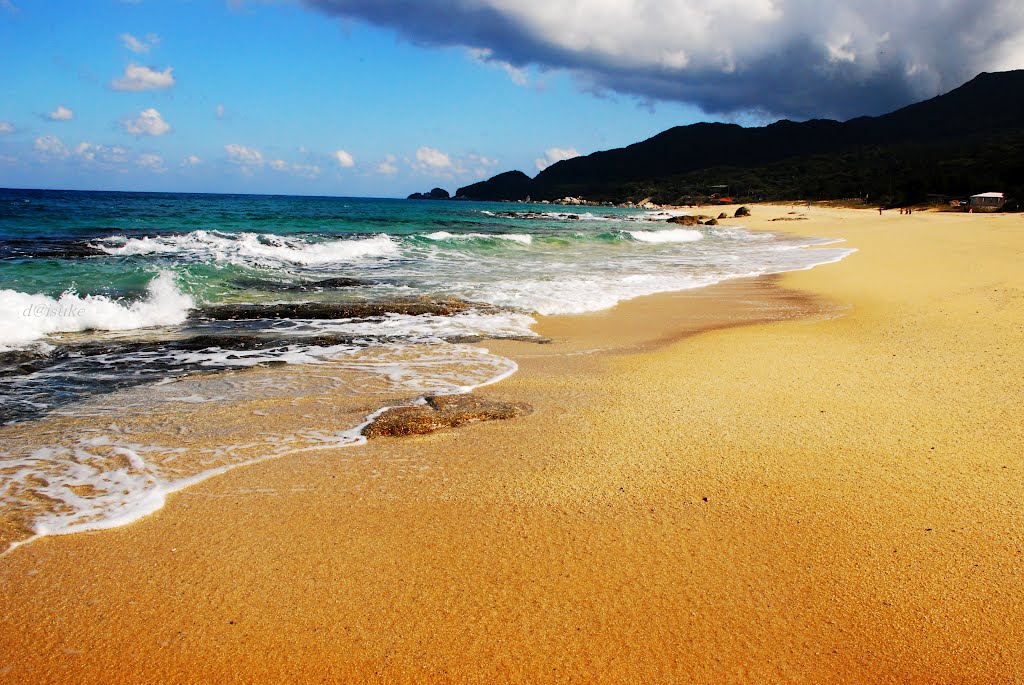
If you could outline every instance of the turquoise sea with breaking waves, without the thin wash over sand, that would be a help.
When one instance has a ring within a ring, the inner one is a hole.
[[[594,311],[846,253],[666,218],[503,203],[0,190],[0,422],[189,374],[528,337],[538,313]],[[411,312],[413,301],[435,304]],[[358,308],[368,304],[376,309]]]

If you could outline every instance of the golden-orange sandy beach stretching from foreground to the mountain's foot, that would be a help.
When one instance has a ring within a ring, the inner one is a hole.
[[[857,252],[487,345],[527,417],[14,550],[0,682],[1024,681],[1024,219],[753,211]]]

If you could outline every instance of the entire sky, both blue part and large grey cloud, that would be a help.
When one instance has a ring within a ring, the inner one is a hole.
[[[1021,68],[1022,0],[0,0],[0,186],[454,192]]]

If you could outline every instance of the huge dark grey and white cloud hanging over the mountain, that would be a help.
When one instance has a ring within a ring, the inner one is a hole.
[[[304,0],[427,46],[711,114],[880,114],[1024,67],[1017,0]]]

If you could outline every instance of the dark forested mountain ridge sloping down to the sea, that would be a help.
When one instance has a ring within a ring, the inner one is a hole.
[[[532,179],[510,171],[456,195],[674,203],[726,185],[750,200],[867,196],[906,202],[989,189],[1020,197],[1022,152],[1024,71],[1014,71],[981,74],[880,117],[677,126],[627,147],[558,162]]]

